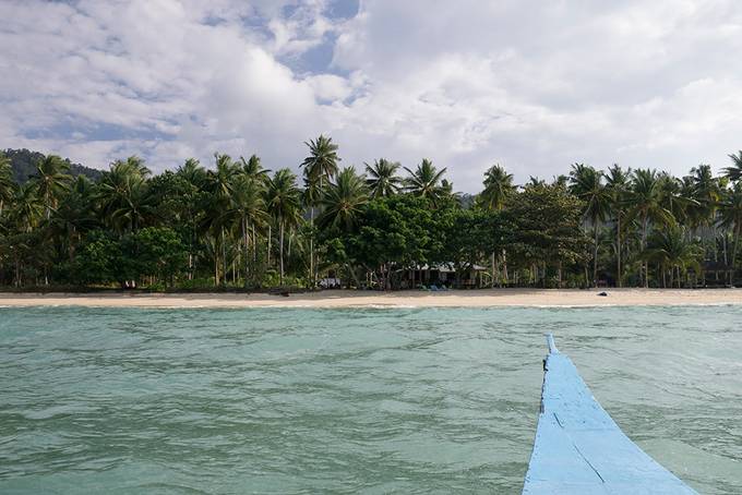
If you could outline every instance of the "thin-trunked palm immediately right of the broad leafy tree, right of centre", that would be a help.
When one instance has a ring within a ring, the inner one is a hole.
[[[574,164],[570,172],[570,189],[585,206],[583,218],[593,226],[593,286],[598,282],[598,233],[611,209],[611,191],[602,183],[603,173],[585,164]]]

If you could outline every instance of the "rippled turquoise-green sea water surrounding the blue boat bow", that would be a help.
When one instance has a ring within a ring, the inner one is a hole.
[[[742,493],[740,316],[0,309],[0,493],[519,493],[546,331],[648,454]]]

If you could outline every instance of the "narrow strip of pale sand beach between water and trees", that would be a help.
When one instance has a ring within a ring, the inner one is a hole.
[[[608,297],[598,295],[608,292]],[[590,307],[742,304],[741,289],[325,290],[292,293],[0,293],[0,307]]]

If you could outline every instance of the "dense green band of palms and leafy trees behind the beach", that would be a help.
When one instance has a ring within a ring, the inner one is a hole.
[[[188,159],[160,174],[131,156],[91,180],[35,154],[20,182],[0,155],[0,287],[742,282],[742,150],[717,177],[703,164],[680,178],[574,164],[517,185],[494,164],[471,197],[428,158],[408,168],[380,157],[361,170],[340,165],[330,136],[304,144],[300,176],[216,153],[208,168]]]

